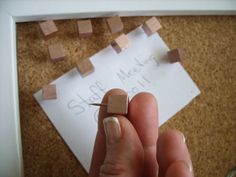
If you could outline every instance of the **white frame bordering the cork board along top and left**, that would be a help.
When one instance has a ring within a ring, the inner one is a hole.
[[[0,176],[23,176],[16,22],[136,15],[235,15],[235,0],[45,0],[0,2]]]

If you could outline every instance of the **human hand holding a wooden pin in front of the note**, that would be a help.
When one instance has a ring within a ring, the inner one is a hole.
[[[110,90],[102,102],[124,93]],[[158,136],[155,97],[140,93],[127,117],[100,108],[89,177],[193,177],[193,170],[183,134],[169,130]]]

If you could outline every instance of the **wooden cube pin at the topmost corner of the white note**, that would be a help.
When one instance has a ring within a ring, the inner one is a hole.
[[[156,19],[156,17],[152,17],[148,19],[143,24],[143,30],[148,36],[151,36],[153,33],[157,32],[159,29],[161,29],[160,22]]]

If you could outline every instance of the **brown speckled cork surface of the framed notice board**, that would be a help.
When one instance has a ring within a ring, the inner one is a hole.
[[[128,33],[149,17],[122,18]],[[222,177],[236,165],[236,17],[157,17],[159,34],[171,48],[183,48],[184,68],[201,90],[161,126],[181,130],[196,177]],[[94,33],[79,38],[76,20],[56,21],[58,33],[45,41],[37,22],[17,24],[20,122],[26,177],[87,176],[80,163],[33,98],[41,89],[106,47],[106,19],[93,19]],[[47,46],[60,42],[67,59],[53,63]],[[158,44],[157,44],[158,45]],[[76,135],[75,135],[76,136]]]

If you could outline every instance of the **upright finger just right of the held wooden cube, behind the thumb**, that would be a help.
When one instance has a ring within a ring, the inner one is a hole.
[[[129,104],[128,119],[136,129],[144,149],[145,177],[156,177],[158,164],[156,143],[158,138],[158,110],[155,97],[150,93],[139,93]]]

